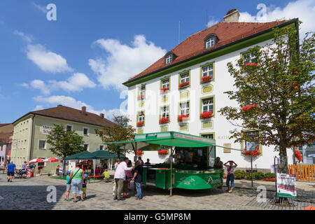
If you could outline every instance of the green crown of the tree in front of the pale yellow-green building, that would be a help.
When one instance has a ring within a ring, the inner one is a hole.
[[[54,125],[55,128],[48,134],[47,143],[49,150],[60,158],[85,151],[83,137],[74,131],[66,131],[62,125]]]

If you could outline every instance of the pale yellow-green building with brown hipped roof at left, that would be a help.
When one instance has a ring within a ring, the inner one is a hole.
[[[105,125],[113,125],[111,121],[86,112],[85,106],[81,110],[72,109],[68,106],[58,105],[55,108],[41,111],[32,111],[22,118],[15,120],[13,146],[11,160],[18,168],[22,167],[24,161],[34,158],[57,157],[49,150],[50,145],[46,143],[47,136],[54,125],[62,125],[65,130],[74,130],[83,137],[84,147],[87,151],[94,152],[104,149],[102,139],[95,134],[95,130],[102,130]],[[43,172],[55,172],[58,162],[45,162]]]

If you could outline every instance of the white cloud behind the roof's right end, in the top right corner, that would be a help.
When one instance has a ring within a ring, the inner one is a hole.
[[[308,31],[315,31],[315,1],[314,0],[297,0],[289,2],[284,8],[276,6],[267,6],[265,18],[251,15],[250,13],[241,13],[240,22],[268,22],[299,18],[303,23],[300,25],[300,38],[304,38],[304,34]]]

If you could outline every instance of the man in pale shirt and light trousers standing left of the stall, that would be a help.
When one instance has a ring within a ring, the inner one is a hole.
[[[113,200],[125,200],[125,198],[121,197],[121,191],[123,188],[123,182],[126,179],[126,171],[134,169],[134,167],[127,167],[127,164],[129,162],[128,158],[125,158],[123,162],[120,162],[120,164],[117,166],[115,175],[114,175],[114,181],[115,181],[115,194],[113,197]]]

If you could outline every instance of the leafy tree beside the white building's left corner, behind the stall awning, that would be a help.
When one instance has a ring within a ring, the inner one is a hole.
[[[103,130],[95,130],[95,133],[102,139],[104,142],[113,142],[113,141],[132,141],[136,130],[132,125],[128,125],[130,119],[127,116],[117,116],[113,114],[113,127],[104,126]],[[134,146],[134,145],[133,145]],[[116,153],[118,158],[120,158],[121,153],[127,153],[130,150],[120,149],[116,146],[108,145],[108,150]],[[134,153],[136,153],[134,148]]]

